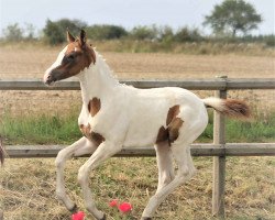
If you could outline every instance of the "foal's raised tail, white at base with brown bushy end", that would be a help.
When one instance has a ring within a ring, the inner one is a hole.
[[[249,119],[251,117],[251,111],[249,106],[241,100],[219,99],[215,97],[209,97],[202,99],[202,101],[206,105],[206,107],[211,107],[218,112],[231,118]]]

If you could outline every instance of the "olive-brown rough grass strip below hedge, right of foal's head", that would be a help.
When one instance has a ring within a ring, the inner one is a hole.
[[[226,43],[226,42],[148,42],[148,41],[99,41],[92,42],[100,51],[131,53],[173,53],[193,55],[238,54],[245,56],[274,56],[272,46],[262,43]]]

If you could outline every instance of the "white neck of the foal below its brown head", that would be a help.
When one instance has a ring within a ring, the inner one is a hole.
[[[79,75],[82,101],[88,102],[94,97],[111,97],[116,87],[119,85],[118,79],[112,75],[111,69],[103,58],[97,54],[97,62],[90,65]]]

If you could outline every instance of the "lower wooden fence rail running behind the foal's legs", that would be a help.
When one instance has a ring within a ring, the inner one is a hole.
[[[8,145],[10,158],[55,157],[65,145]],[[275,143],[193,144],[193,156],[274,156]],[[89,155],[84,155],[87,157]],[[155,156],[153,147],[123,148],[114,156]]]

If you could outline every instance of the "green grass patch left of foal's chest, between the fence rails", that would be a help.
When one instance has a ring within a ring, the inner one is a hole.
[[[81,136],[77,114],[61,116],[4,116],[0,133],[7,144],[69,144]]]

